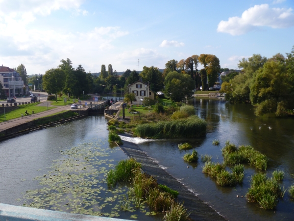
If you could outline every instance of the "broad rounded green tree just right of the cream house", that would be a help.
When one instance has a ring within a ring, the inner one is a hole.
[[[165,93],[171,96],[172,101],[182,101],[185,96],[191,97],[195,82],[188,74],[179,74],[176,71],[170,72],[164,81]]]

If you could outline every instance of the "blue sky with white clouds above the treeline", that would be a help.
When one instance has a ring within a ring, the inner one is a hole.
[[[294,46],[294,0],[0,0],[0,65],[44,74],[70,58],[88,72],[212,54],[237,69]]]

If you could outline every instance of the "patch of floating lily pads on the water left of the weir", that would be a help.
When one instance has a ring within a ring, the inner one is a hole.
[[[54,161],[46,174],[35,178],[41,188],[26,191],[18,200],[33,208],[152,220],[152,215],[147,219],[146,213],[154,211],[146,205],[135,208],[135,202],[128,198],[127,186],[108,189],[106,174],[115,166],[109,157],[118,150],[103,148],[101,144],[94,141],[61,150],[63,157]]]

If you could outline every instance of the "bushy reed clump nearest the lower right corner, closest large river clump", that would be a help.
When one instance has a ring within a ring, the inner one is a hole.
[[[257,202],[261,208],[272,210],[278,203],[278,197],[283,197],[285,192],[278,180],[268,178],[264,173],[255,173],[251,176],[246,198],[249,202]]]

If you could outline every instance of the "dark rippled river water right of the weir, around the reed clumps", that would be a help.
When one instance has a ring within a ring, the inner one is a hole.
[[[212,155],[212,161],[222,162],[221,148],[226,140],[238,145],[250,144],[270,158],[267,170],[269,176],[274,169],[284,170],[285,176],[281,185],[288,188],[294,184],[294,118],[256,117],[249,104],[233,105],[218,99],[195,98],[190,104],[195,106],[196,114],[208,122],[205,138],[187,140],[196,147],[199,159],[201,155],[209,154]],[[220,146],[212,145],[214,139],[220,140]],[[243,185],[235,188],[220,187],[214,179],[202,173],[203,163],[200,160],[195,164],[184,162],[182,157],[186,152],[180,151],[177,145],[186,140],[135,138],[133,141],[172,176],[230,221],[294,220],[294,200],[288,192],[279,200],[274,211],[248,203],[245,197],[236,197],[245,196],[249,188],[250,177],[257,171],[251,166],[245,166]]]

